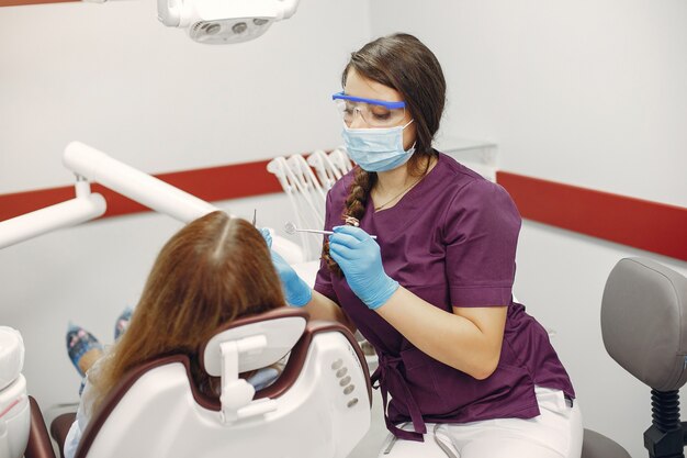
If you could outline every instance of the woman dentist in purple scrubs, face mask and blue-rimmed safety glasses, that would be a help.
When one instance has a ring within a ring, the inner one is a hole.
[[[334,234],[314,290],[272,256],[292,305],[374,346],[393,434],[380,456],[578,458],[573,386],[513,301],[518,210],[431,147],[446,97],[437,58],[412,35],[384,36],[351,54],[342,86],[333,99],[357,167],[328,193]]]

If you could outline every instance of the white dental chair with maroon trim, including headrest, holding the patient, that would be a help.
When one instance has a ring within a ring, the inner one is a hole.
[[[103,401],[76,457],[344,458],[370,426],[368,367],[340,324],[281,308],[219,329],[201,355],[203,370],[221,378],[219,399],[198,390],[187,356],[150,361]],[[238,377],[285,355],[283,372],[262,390]],[[72,421],[53,422],[60,450]]]

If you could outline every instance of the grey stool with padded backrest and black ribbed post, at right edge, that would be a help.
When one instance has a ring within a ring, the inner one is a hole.
[[[621,259],[604,289],[601,334],[608,354],[651,388],[649,456],[684,457],[687,423],[680,423],[678,390],[687,381],[687,278],[649,259]],[[582,458],[630,455],[585,429]]]

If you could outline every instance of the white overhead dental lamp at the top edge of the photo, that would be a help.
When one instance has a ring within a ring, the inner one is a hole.
[[[189,36],[206,44],[247,42],[273,22],[295,13],[299,0],[158,0],[158,20],[188,27]]]

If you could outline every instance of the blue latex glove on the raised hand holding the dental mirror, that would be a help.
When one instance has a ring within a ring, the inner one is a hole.
[[[368,308],[376,310],[384,305],[398,289],[398,282],[384,272],[380,246],[360,227],[334,227],[329,254],[344,271],[348,286]]]

